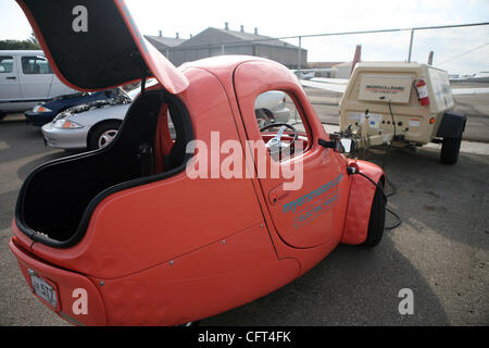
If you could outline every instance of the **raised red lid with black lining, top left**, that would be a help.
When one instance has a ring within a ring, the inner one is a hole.
[[[63,83],[100,90],[154,76],[171,94],[187,78],[139,33],[124,0],[16,0]]]

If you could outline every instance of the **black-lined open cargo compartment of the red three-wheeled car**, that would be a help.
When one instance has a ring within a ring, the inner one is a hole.
[[[192,126],[183,102],[148,90],[133,102],[109,146],[47,163],[30,174],[17,201],[17,226],[47,245],[76,244],[103,198],[185,170],[192,156],[186,153],[190,140]]]

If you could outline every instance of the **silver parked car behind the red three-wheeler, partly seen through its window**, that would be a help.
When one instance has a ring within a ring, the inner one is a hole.
[[[158,84],[155,79],[149,80],[147,88],[155,84]],[[42,127],[45,144],[66,150],[97,150],[108,146],[117,135],[129,104],[138,94],[139,88],[127,94],[120,90],[120,96],[115,98],[84,103],[61,112],[51,123]],[[259,96],[255,113],[260,127],[274,122],[287,123],[290,110],[286,108],[286,94],[272,90]],[[170,128],[172,132],[171,123]]]

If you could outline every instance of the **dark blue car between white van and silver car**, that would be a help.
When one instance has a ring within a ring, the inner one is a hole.
[[[98,92],[78,92],[73,95],[55,97],[49,101],[43,101],[32,110],[25,112],[27,124],[43,126],[51,122],[60,112],[72,107],[89,103],[97,100],[106,100],[117,96],[117,89],[108,89]]]

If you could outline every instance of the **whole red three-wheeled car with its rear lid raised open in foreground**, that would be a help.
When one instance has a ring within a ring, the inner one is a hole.
[[[223,55],[176,69],[123,0],[17,2],[66,85],[160,83],[141,88],[108,147],[41,165],[20,192],[10,248],[65,320],[193,322],[288,284],[340,243],[379,243],[381,169],[340,153],[285,66]],[[298,123],[259,127],[255,100],[272,90]]]

